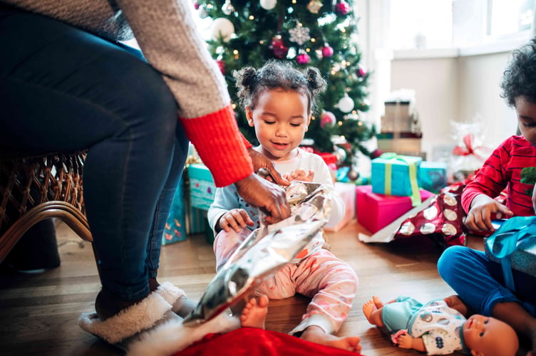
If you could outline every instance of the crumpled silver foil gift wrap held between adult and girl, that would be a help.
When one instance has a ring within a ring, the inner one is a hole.
[[[194,326],[214,318],[238,303],[264,279],[321,233],[331,211],[330,194],[322,184],[293,181],[284,187],[292,214],[277,224],[264,225],[250,234],[210,281],[199,303],[183,321]],[[261,220],[264,214],[259,211]]]

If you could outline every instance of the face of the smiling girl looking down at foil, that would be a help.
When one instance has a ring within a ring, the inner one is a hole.
[[[294,90],[265,90],[255,108],[246,107],[249,126],[262,146],[262,153],[272,161],[296,157],[296,148],[304,139],[311,120],[306,95]]]

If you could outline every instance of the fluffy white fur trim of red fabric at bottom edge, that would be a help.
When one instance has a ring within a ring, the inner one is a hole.
[[[225,312],[206,323],[194,326],[184,326],[178,320],[170,320],[141,333],[138,339],[128,344],[127,355],[169,356],[184,350],[209,333],[228,333],[239,327],[239,319]]]

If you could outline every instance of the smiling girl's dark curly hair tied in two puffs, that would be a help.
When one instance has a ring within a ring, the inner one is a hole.
[[[299,70],[291,63],[282,61],[270,60],[258,70],[245,67],[235,71],[233,75],[237,80],[237,95],[242,108],[249,106],[254,109],[264,90],[281,88],[306,95],[310,114],[315,108],[317,96],[326,90],[326,80],[317,68]]]

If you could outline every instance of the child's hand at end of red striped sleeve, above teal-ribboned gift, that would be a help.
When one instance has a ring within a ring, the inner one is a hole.
[[[495,199],[485,194],[478,194],[471,201],[471,209],[465,218],[465,226],[474,231],[495,231],[491,224],[491,213],[503,213],[509,217],[514,214]]]

